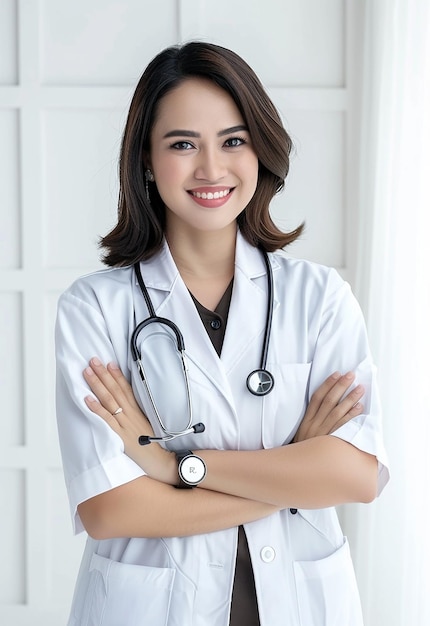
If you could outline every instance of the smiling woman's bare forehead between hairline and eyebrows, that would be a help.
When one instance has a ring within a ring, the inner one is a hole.
[[[173,127],[219,131],[243,123],[243,117],[227,91],[209,80],[188,78],[159,101],[153,133],[167,132]]]

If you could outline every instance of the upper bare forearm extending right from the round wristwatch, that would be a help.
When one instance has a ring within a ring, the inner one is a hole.
[[[256,451],[204,450],[199,486],[280,508],[323,508],[369,502],[376,495],[377,461],[332,436]]]

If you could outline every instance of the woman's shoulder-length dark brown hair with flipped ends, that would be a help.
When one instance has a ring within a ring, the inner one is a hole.
[[[237,54],[220,46],[191,42],[172,46],[148,65],[134,92],[119,159],[118,223],[100,240],[103,261],[131,265],[157,252],[163,242],[165,207],[155,183],[145,189],[145,159],[158,104],[169,91],[189,78],[213,81],[233,98],[258,157],[257,188],[237,222],[247,241],[268,252],[293,242],[303,224],[284,233],[273,223],[269,204],[284,187],[292,142],[261,82]]]

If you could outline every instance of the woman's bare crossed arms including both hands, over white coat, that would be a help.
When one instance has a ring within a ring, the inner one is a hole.
[[[139,435],[153,432],[121,371],[92,359],[84,377],[97,398],[88,396],[88,407],[122,438],[125,453],[147,474],[79,505],[81,520],[95,538],[194,535],[287,507],[370,502],[376,496],[376,458],[329,436],[362,411],[362,386],[342,399],[352,373],[333,374],[315,392],[292,444],[255,451],[199,450],[207,476],[189,490],[175,488],[172,452],[157,443],[138,444]],[[123,411],[112,415],[118,406]]]

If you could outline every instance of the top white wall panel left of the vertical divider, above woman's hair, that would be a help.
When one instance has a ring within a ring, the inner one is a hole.
[[[44,84],[134,84],[152,56],[176,40],[176,2],[43,0],[41,24]]]

